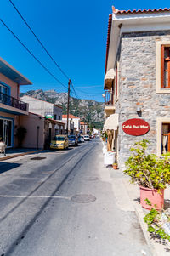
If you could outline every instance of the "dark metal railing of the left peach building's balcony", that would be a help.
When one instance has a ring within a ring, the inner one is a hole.
[[[13,106],[21,111],[28,111],[27,103],[15,99],[14,97],[8,96],[7,94],[0,93],[0,103],[3,103],[4,105]]]

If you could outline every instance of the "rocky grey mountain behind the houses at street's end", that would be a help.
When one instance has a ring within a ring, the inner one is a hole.
[[[20,93],[20,97],[28,95],[39,100],[47,100],[48,102],[63,107],[63,114],[66,114],[67,108],[67,93],[57,93],[55,90],[43,91],[31,90]],[[70,113],[74,116],[80,117],[82,122],[88,122],[94,128],[102,128],[104,124],[104,103],[95,100],[82,100],[71,97],[70,98]]]

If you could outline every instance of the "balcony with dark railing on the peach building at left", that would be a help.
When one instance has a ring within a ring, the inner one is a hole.
[[[6,107],[3,105],[6,105]],[[15,99],[14,97],[8,96],[7,94],[0,93],[0,108],[3,108],[3,111],[15,114],[26,114],[25,112],[28,111],[28,104]],[[15,110],[13,108],[15,108]]]

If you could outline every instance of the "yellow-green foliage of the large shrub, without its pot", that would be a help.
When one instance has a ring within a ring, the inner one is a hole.
[[[160,158],[155,154],[146,154],[148,144],[146,139],[134,144],[130,149],[133,154],[127,159],[124,174],[130,176],[132,183],[161,191],[170,182],[170,156]]]

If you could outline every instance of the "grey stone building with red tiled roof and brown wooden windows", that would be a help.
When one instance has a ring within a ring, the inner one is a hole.
[[[112,10],[105,89],[112,97],[111,111],[118,114],[114,145],[124,168],[129,148],[141,139],[150,140],[150,153],[170,151],[170,9]],[[144,120],[149,131],[127,133],[122,124],[131,119]]]

